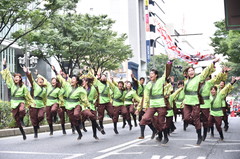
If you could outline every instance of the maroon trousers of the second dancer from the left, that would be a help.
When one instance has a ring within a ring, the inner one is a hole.
[[[33,126],[39,126],[39,123],[44,119],[45,110],[44,108],[33,108],[29,109],[30,119]]]

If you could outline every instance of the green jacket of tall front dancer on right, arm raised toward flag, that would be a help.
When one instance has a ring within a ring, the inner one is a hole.
[[[188,79],[185,81],[184,85],[184,104],[187,105],[197,105],[200,104],[199,98],[198,98],[198,87],[199,83],[203,82],[208,76],[210,76],[213,72],[214,64],[211,64],[210,66],[206,67],[201,74],[193,77],[192,79]]]

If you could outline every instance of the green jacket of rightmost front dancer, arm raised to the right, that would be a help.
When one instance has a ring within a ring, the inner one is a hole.
[[[212,116],[223,116],[222,111],[222,100],[232,91],[233,86],[227,84],[216,96],[210,96],[211,107],[210,115]]]

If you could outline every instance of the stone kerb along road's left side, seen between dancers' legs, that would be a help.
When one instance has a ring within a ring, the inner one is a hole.
[[[122,121],[122,120],[119,120]],[[111,118],[104,118],[103,124],[109,124],[112,123],[112,119]],[[91,122],[90,121],[86,121],[85,122],[85,126],[90,126]],[[33,134],[34,130],[33,127],[24,127],[23,128],[26,134]],[[65,124],[65,129],[71,129],[71,124],[70,123],[66,123]],[[54,124],[53,125],[53,130],[62,130],[61,124]],[[39,133],[41,132],[49,132],[49,126],[48,125],[42,125],[40,126],[40,129],[38,130]],[[8,137],[8,136],[15,136],[15,135],[21,135],[21,132],[19,130],[19,128],[9,128],[9,129],[1,129],[0,130],[0,138],[1,137]]]

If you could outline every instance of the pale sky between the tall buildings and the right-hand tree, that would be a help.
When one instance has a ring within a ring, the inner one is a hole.
[[[223,0],[165,0],[168,22],[174,23],[178,32],[203,33],[186,37],[196,50],[210,50],[210,39],[216,30],[215,21],[225,18]]]

